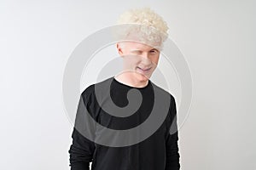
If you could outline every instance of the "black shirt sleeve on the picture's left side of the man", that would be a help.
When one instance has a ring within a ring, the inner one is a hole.
[[[90,170],[90,161],[95,150],[95,143],[85,138],[85,135],[92,137],[94,126],[88,121],[84,100],[81,94],[72,133],[73,143],[68,150],[71,170]]]

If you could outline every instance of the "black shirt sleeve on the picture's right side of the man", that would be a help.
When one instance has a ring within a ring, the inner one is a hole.
[[[166,170],[179,170],[180,155],[178,153],[177,110],[175,99],[172,97],[170,115],[168,117],[168,133],[166,137]]]

